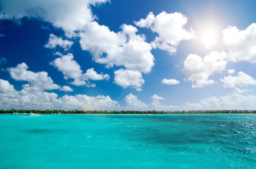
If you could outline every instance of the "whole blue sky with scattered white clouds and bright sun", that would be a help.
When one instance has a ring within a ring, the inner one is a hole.
[[[0,0],[0,109],[256,109],[255,0]]]

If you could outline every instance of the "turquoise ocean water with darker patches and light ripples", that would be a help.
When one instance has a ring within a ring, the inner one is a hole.
[[[0,115],[0,169],[256,169],[256,114]]]

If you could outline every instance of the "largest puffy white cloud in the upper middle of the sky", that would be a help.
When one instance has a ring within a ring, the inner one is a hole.
[[[96,63],[106,64],[106,67],[125,66],[149,73],[154,66],[154,56],[150,44],[145,42],[145,35],[136,34],[137,28],[131,25],[124,24],[121,29],[115,33],[107,26],[92,22],[79,34],[81,48],[89,51]]]

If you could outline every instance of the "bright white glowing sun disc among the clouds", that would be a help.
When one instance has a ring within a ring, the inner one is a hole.
[[[215,45],[216,41],[216,33],[212,29],[207,29],[201,34],[201,41],[205,45],[206,48],[209,48]]]

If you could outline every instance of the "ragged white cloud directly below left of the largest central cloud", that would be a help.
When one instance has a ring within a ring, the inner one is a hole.
[[[58,54],[59,55],[59,54]],[[58,71],[64,74],[64,79],[74,79],[71,84],[75,86],[95,87],[95,84],[90,84],[89,80],[109,80],[108,74],[97,74],[93,68],[87,69],[83,74],[81,66],[73,59],[73,54],[60,55],[61,57],[53,60],[50,65],[56,67]]]

